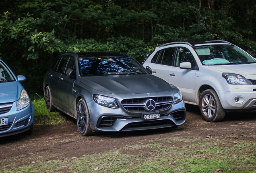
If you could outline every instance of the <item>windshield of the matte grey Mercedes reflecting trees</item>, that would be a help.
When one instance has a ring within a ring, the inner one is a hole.
[[[82,76],[146,74],[143,67],[132,58],[125,57],[93,57],[80,58]]]

